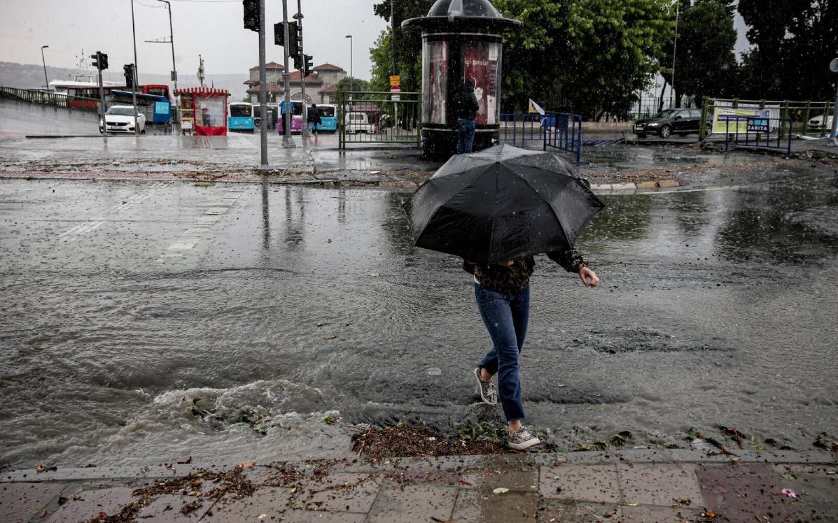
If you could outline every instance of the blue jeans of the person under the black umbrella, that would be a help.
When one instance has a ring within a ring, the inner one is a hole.
[[[474,284],[474,297],[494,343],[478,367],[498,375],[498,395],[506,421],[524,419],[519,356],[530,322],[530,285],[519,294],[504,295]]]

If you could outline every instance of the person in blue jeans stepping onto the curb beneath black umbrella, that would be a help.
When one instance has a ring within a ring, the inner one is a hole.
[[[568,272],[579,274],[586,287],[599,285],[597,274],[587,267],[587,259],[576,249],[547,253]],[[480,317],[494,346],[474,369],[480,397],[484,403],[496,405],[498,398],[509,423],[508,444],[523,450],[541,444],[521,422],[524,404],[521,401],[520,352],[524,347],[530,320],[530,276],[535,271],[532,256],[480,267],[463,260],[463,269],[474,275],[474,296]],[[498,376],[495,387],[492,377]]]

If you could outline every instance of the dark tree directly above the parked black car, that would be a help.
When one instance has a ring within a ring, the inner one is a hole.
[[[727,96],[735,88],[737,61],[733,49],[737,32],[726,2],[704,0],[685,3],[678,23],[675,57],[675,106],[683,95],[695,96],[697,105],[705,95]],[[666,46],[665,64],[672,64],[673,42]],[[661,70],[672,85],[672,69]]]

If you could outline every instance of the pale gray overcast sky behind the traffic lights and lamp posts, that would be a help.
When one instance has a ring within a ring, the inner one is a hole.
[[[198,55],[207,74],[247,74],[259,63],[259,37],[242,24],[241,0],[171,0],[174,51],[178,77],[193,77]],[[272,24],[282,21],[282,2],[266,0],[266,56],[282,64],[282,48],[273,44]],[[328,62],[349,72],[349,39],[353,35],[354,75],[370,79],[370,47],[381,30],[382,18],[372,12],[373,0],[302,0],[306,54],[314,65]],[[288,0],[288,17],[297,2]],[[135,0],[137,64],[140,72],[168,74],[172,69],[169,44],[145,40],[168,37],[165,4]],[[40,64],[41,46],[47,65],[76,67],[81,49],[108,54],[111,71],[134,61],[131,0],[0,0],[0,61]],[[90,62],[90,60],[88,60]],[[292,64],[291,64],[292,65]],[[292,65],[293,67],[293,65]]]

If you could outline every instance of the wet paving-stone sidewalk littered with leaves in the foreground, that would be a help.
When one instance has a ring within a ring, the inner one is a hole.
[[[627,449],[29,469],[0,479],[0,520],[836,521],[836,458]]]

